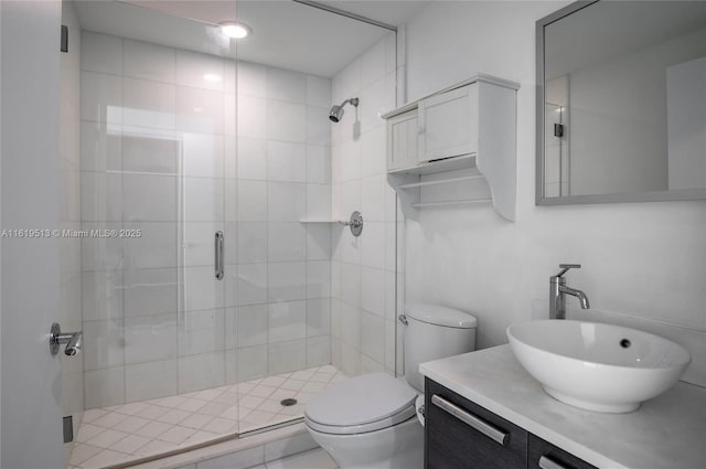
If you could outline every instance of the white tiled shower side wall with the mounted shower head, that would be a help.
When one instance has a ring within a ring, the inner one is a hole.
[[[360,211],[360,237],[333,226],[332,361],[347,375],[395,372],[396,195],[386,179],[386,126],[395,108],[395,34],[333,77],[333,102],[359,97],[332,128],[333,217]]]

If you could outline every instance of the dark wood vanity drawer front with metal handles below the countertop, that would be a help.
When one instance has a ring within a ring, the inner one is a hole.
[[[426,469],[597,469],[427,379]]]

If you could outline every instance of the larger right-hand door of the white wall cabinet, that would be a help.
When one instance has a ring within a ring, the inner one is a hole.
[[[473,153],[478,150],[478,85],[419,102],[419,161]]]

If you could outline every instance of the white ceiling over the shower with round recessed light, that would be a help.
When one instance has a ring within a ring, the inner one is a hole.
[[[388,30],[291,0],[130,0],[74,2],[82,29],[331,77]],[[325,1],[399,25],[428,1]],[[237,11],[236,11],[237,9]],[[214,23],[247,23],[243,41],[223,38]]]

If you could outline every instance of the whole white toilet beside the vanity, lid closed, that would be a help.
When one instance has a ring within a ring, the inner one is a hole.
[[[368,373],[336,383],[304,411],[313,439],[342,469],[421,469],[424,376],[419,363],[470,352],[477,320],[438,305],[409,305],[405,324],[405,379]]]

